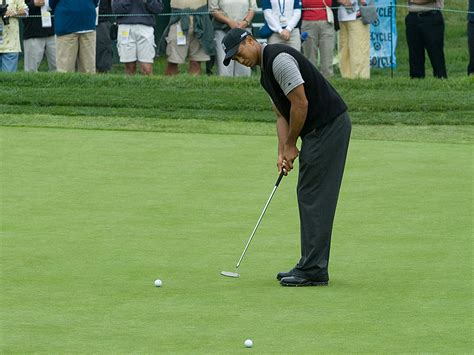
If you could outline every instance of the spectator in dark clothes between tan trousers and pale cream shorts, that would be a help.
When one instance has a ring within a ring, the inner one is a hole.
[[[98,73],[107,73],[112,69],[112,0],[100,0],[99,23],[96,31],[95,70]]]

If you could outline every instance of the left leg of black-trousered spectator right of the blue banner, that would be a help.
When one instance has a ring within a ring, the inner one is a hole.
[[[410,78],[425,77],[425,47],[419,26],[418,15],[408,13],[405,17],[405,30],[408,44],[408,60],[410,63]]]

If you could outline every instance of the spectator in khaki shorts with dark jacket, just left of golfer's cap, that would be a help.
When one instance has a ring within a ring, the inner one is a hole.
[[[168,57],[166,75],[179,72],[189,60],[189,73],[201,74],[201,63],[215,54],[214,29],[207,0],[171,0],[170,22],[160,41],[160,52]]]

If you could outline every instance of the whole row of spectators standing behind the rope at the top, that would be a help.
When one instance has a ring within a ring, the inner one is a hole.
[[[116,40],[125,73],[153,73],[157,56],[166,56],[166,75],[201,74],[203,63],[217,64],[220,76],[250,76],[249,68],[222,65],[221,41],[232,28],[252,31],[256,0],[170,0],[171,13],[159,41],[156,15],[163,0],[0,0],[0,71],[17,71],[23,21],[24,70],[36,72],[46,57],[50,71],[106,73]],[[474,72],[473,1],[469,0],[468,75]],[[261,0],[266,41],[302,53],[330,78],[334,74],[336,31],[343,78],[370,78],[370,29],[361,21],[366,0]],[[425,77],[425,52],[433,76],[447,78],[444,56],[444,0],[407,0],[406,40],[411,78]],[[156,44],[158,43],[158,50]]]

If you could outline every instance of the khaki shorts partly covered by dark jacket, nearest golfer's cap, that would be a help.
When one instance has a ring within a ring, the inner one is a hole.
[[[186,62],[186,58],[196,62],[206,62],[211,58],[204,51],[201,43],[196,38],[194,33],[189,32],[186,35],[186,44],[178,46],[177,40],[177,27],[181,22],[174,23],[170,26],[168,37],[166,37],[166,55],[168,56],[168,62],[175,64],[183,64]]]

